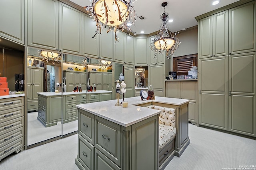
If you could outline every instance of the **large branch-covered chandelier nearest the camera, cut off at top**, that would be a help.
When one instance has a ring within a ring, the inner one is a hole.
[[[136,0],[90,0],[92,3],[90,6],[84,7],[92,20],[96,21],[96,33],[92,37],[94,38],[97,33],[101,34],[103,28],[108,26],[107,33],[114,31],[115,40],[117,40],[117,29],[127,29],[131,32],[131,25],[136,21],[136,12],[134,11],[131,3]]]

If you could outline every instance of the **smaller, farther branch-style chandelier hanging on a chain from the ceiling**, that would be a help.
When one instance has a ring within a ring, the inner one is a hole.
[[[160,15],[162,24],[156,34],[156,37],[150,44],[151,50],[155,52],[154,58],[156,58],[157,54],[164,54],[164,52],[166,52],[166,58],[170,59],[171,56],[174,56],[175,50],[178,49],[181,43],[176,37],[178,32],[170,33],[168,25],[166,24],[169,18],[168,13],[165,12],[166,6],[167,2],[163,2],[162,8],[164,8],[164,13]]]

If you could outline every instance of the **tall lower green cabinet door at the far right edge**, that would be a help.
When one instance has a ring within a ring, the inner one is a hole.
[[[231,55],[229,61],[229,131],[256,137],[256,52]]]

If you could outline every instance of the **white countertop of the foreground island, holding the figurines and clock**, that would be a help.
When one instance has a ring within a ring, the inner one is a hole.
[[[159,110],[136,106],[138,104],[159,102],[180,106],[186,102],[189,102],[190,100],[156,97],[156,100],[140,101],[140,96],[137,96],[132,98],[125,98],[125,101],[128,101],[128,107],[126,108],[122,106],[115,106],[117,100],[80,104],[76,105],[76,107],[124,127],[128,127],[149,117],[160,114]],[[119,102],[122,102],[122,99],[119,100]]]

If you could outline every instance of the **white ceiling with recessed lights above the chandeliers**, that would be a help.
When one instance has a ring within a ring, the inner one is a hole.
[[[90,0],[70,0],[82,7],[89,6]],[[197,25],[196,16],[200,16],[212,10],[216,10],[239,0],[220,0],[220,3],[213,6],[214,0],[137,0],[132,4],[137,16],[144,16],[146,19],[140,20],[136,17],[135,25],[132,25],[132,32],[150,34],[160,29],[162,20],[160,15],[164,12],[162,2],[168,2],[165,12],[169,14],[172,23],[168,23],[170,31],[180,31]]]

